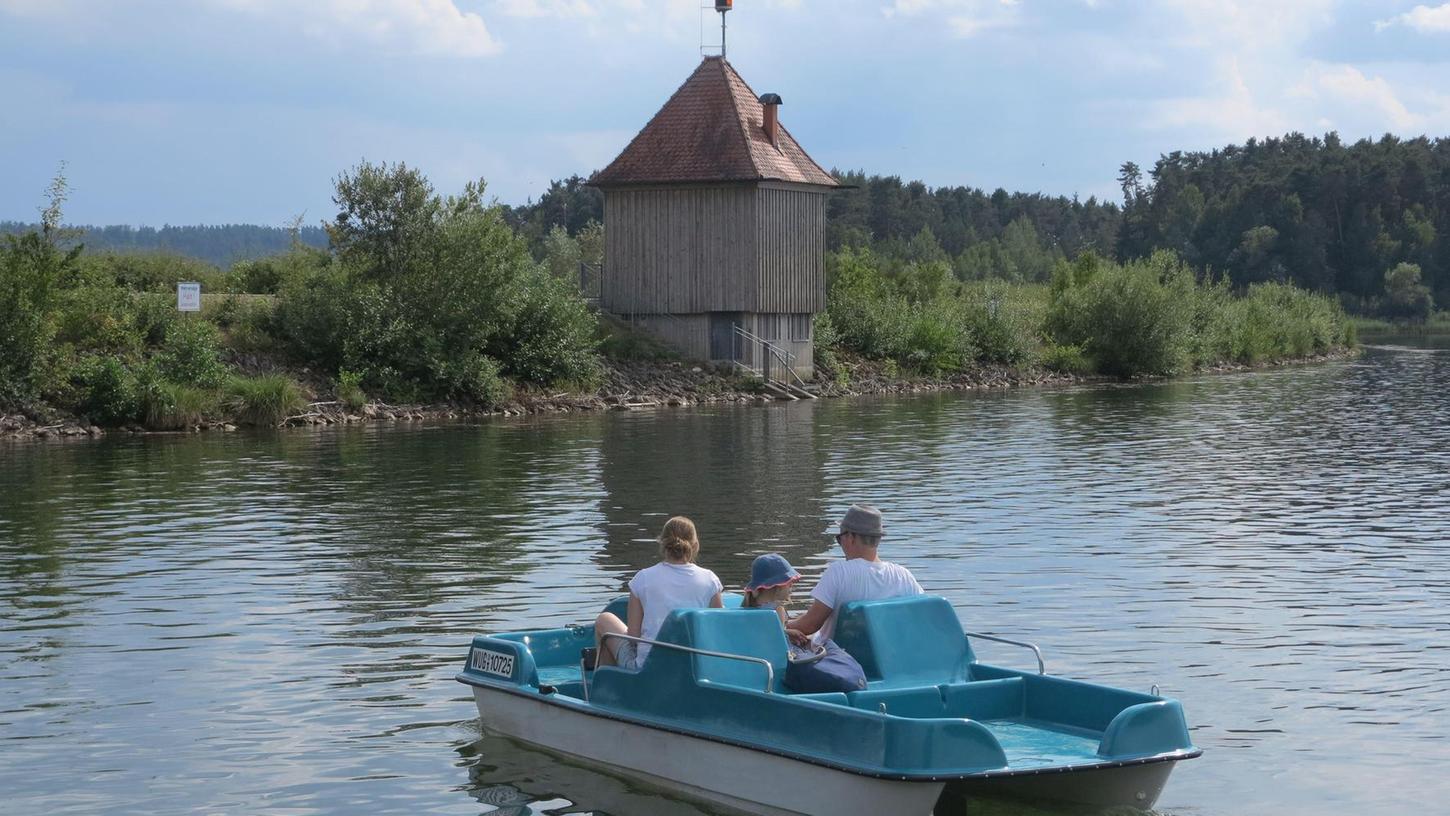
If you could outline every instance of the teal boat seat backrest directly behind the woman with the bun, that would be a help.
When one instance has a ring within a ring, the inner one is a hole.
[[[773,691],[784,691],[786,632],[780,617],[768,609],[677,609],[660,626],[660,641],[696,649],[744,655],[770,661],[774,671]],[[667,652],[661,646],[650,649],[648,661]],[[679,652],[676,652],[679,654]],[[758,662],[689,655],[696,681],[738,686],[763,691],[766,668]]]

